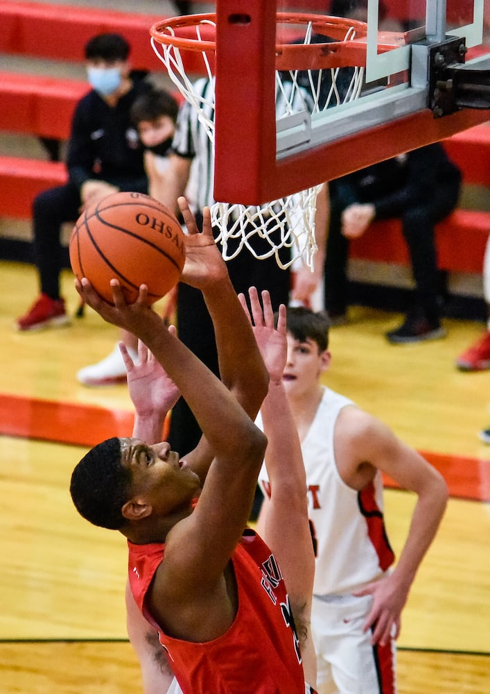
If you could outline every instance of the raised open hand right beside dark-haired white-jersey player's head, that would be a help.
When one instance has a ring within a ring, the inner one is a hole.
[[[274,325],[274,312],[270,302],[270,294],[263,291],[262,306],[259,301],[259,294],[255,287],[248,290],[250,298],[250,311],[243,294],[238,294],[238,299],[243,310],[249,316],[257,346],[269,372],[271,381],[281,381],[286,366],[287,344],[286,344],[286,306],[279,306],[277,327]]]

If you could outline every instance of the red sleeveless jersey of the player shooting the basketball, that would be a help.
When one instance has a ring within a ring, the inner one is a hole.
[[[164,543],[128,541],[132,594],[157,628],[184,694],[304,694],[304,674],[286,586],[272,552],[246,530],[231,561],[238,610],[228,631],[193,643],[167,636],[146,609],[145,595],[164,557]]]

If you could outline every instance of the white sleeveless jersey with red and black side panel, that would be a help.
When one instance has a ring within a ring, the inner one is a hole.
[[[308,486],[308,515],[316,540],[315,595],[347,593],[379,577],[394,560],[383,523],[383,480],[378,471],[362,491],[342,480],[335,464],[333,432],[338,414],[353,402],[324,388],[301,443]],[[261,426],[261,418],[257,424]],[[268,477],[262,466],[265,493]]]

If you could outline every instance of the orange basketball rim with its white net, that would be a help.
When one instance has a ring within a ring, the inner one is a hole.
[[[216,15],[162,19],[152,26],[150,34],[159,60],[198,112],[214,145],[214,90],[209,101],[193,89],[182,52],[200,53],[205,74],[214,84]],[[300,120],[305,112],[311,117],[358,98],[364,78],[367,24],[343,17],[278,12],[277,36],[287,37],[276,44],[278,133],[282,118],[297,115]],[[259,259],[275,255],[283,268],[301,258],[313,270],[315,210],[321,187],[315,185],[260,206],[216,202],[211,219],[219,229],[217,240],[225,260],[236,257],[246,246]],[[260,253],[254,249],[257,236],[268,242],[268,248]],[[290,249],[286,262],[279,257],[282,248]]]

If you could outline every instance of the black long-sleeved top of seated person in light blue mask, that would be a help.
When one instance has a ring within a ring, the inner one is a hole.
[[[67,167],[78,189],[89,178],[105,180],[123,191],[139,189],[146,178],[143,148],[130,119],[135,99],[150,89],[144,79],[134,79],[130,91],[108,105],[91,90],[76,106],[68,146]]]

